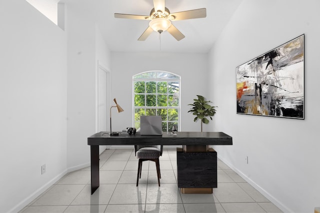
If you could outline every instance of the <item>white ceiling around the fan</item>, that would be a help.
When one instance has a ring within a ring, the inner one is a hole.
[[[242,0],[166,0],[171,13],[206,8],[206,17],[172,21],[184,35],[175,40],[167,31],[153,31],[145,41],[137,39],[148,26],[148,20],[114,18],[114,13],[149,15],[152,0],[77,0],[91,13],[110,51],[122,52],[197,52],[207,53]],[[93,6],[89,7],[89,3]],[[77,5],[81,7],[80,5]]]

